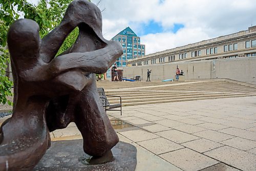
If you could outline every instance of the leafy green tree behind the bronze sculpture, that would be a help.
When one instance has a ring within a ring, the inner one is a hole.
[[[44,37],[61,22],[71,2],[72,0],[40,0],[34,6],[26,0],[0,0],[0,103],[12,104],[7,97],[12,96],[13,83],[6,76],[6,69],[10,62],[8,49],[6,48],[9,26],[20,17],[20,13],[23,13],[24,18],[33,19],[38,23],[40,36]],[[78,34],[78,28],[74,29],[63,42],[57,55],[71,47]]]

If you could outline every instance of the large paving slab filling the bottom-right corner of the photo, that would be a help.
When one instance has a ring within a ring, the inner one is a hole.
[[[256,155],[237,148],[223,146],[212,149],[204,154],[241,170],[252,171],[256,168]]]

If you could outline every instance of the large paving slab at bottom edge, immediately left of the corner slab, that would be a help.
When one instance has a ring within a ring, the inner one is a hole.
[[[219,163],[217,160],[211,159],[188,148],[178,149],[177,151],[159,156],[177,167],[189,171],[200,170]]]

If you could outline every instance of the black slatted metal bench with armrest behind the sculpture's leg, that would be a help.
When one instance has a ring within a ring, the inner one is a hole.
[[[105,108],[105,112],[106,111],[121,111],[121,115],[122,115],[122,98],[120,96],[111,96],[111,95],[105,95],[105,91],[103,88],[97,88],[99,97],[102,101],[103,107]],[[106,96],[109,97],[119,97],[120,98],[120,103],[118,104],[110,104],[109,100],[106,98]],[[120,108],[120,110],[117,110],[115,108]]]

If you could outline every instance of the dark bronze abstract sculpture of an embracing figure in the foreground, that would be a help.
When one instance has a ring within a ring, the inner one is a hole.
[[[55,57],[68,34],[79,27],[75,44]],[[60,25],[42,40],[39,27],[19,19],[8,32],[14,78],[12,117],[0,128],[0,170],[30,170],[50,146],[49,131],[75,122],[89,155],[103,156],[119,141],[96,91],[95,74],[121,56],[115,41],[102,36],[100,10],[73,1]]]

